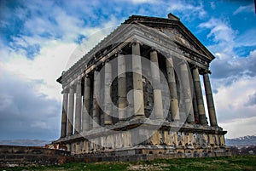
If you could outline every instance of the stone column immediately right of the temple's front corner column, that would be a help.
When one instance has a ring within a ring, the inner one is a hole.
[[[153,79],[153,94],[154,94],[154,118],[163,119],[164,111],[163,111],[163,99],[161,92],[161,84],[160,84],[160,68],[158,64],[157,52],[155,50],[150,52],[150,66],[151,66],[151,75]]]

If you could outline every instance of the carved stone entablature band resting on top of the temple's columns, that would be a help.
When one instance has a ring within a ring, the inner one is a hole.
[[[147,44],[166,57],[174,54],[176,57],[187,60],[203,69],[207,69],[212,60],[211,57],[186,47],[183,43],[179,43],[176,39],[157,29],[141,24],[121,25],[98,43],[95,48],[92,48],[89,53],[84,54],[70,69],[63,72],[57,81],[62,86],[72,83],[83,73],[88,74],[95,70],[96,66],[102,65],[113,54],[119,53],[128,43],[136,41]]]

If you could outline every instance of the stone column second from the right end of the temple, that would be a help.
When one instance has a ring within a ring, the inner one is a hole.
[[[199,123],[207,124],[207,117],[206,117],[204,100],[201,93],[201,82],[200,82],[198,68],[195,67],[192,72],[193,72],[193,80],[195,85],[195,97],[196,97],[197,108],[199,112]]]

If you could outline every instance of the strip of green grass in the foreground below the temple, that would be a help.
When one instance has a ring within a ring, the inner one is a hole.
[[[0,169],[1,170],[1,169]],[[95,163],[67,163],[55,166],[33,166],[20,168],[2,168],[2,171],[26,170],[256,170],[256,156],[239,157],[208,157],[208,158],[178,158],[156,159],[143,162],[95,162]]]

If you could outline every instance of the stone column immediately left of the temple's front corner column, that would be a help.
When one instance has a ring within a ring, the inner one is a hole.
[[[126,113],[124,111],[127,106],[126,97],[126,75],[125,75],[125,57],[122,54],[118,56],[118,106],[119,106],[119,121],[124,121]]]

